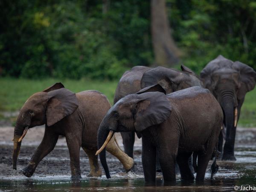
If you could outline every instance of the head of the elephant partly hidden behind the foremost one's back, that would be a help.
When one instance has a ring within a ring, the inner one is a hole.
[[[167,94],[188,87],[202,87],[201,80],[192,70],[184,65],[181,65],[181,70],[178,71],[166,67],[156,67],[148,70],[143,74],[141,87],[144,88],[154,84],[160,84],[166,90]]]

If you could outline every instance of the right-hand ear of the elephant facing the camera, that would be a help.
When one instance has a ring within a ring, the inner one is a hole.
[[[256,72],[252,67],[241,63],[240,61],[234,62],[234,68],[240,73],[241,86],[237,93],[238,99],[243,99],[245,94],[253,90],[256,84]]]

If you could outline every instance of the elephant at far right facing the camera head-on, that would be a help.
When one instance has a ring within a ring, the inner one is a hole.
[[[236,126],[245,94],[255,87],[256,72],[240,61],[233,62],[219,55],[204,67],[200,76],[204,86],[218,100],[224,113],[223,127],[226,133],[223,130],[223,134],[220,134],[218,151],[222,153],[222,160],[236,160]]]

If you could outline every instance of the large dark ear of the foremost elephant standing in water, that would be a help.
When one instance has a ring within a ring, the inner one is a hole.
[[[134,128],[137,132],[158,125],[169,118],[172,106],[166,95],[160,92],[147,92],[137,96],[137,110]]]

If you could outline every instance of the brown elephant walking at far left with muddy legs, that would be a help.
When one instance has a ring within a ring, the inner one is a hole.
[[[73,93],[61,83],[33,94],[25,102],[17,117],[14,130],[13,169],[16,169],[21,141],[29,128],[44,125],[45,132],[41,144],[33,154],[28,166],[22,169],[26,177],[31,177],[38,163],[55,147],[58,136],[66,137],[70,153],[71,178],[81,178],[80,148],[89,158],[89,177],[100,177],[102,172],[98,163],[97,131],[111,105],[105,95],[96,90]],[[116,156],[125,170],[134,164],[113,138],[107,151]]]

